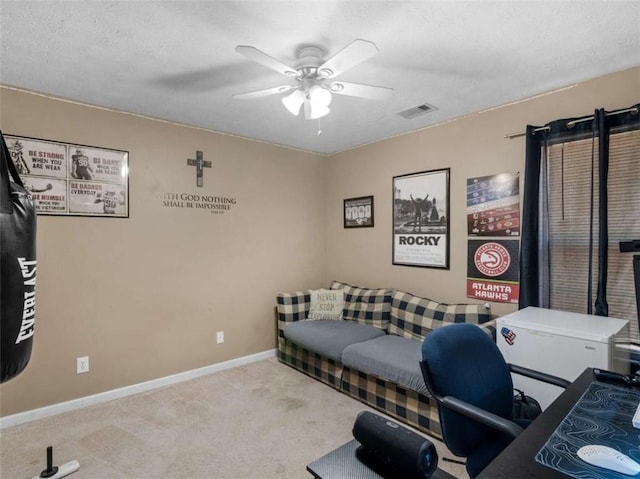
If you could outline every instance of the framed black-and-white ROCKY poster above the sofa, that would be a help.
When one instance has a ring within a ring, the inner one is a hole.
[[[393,264],[449,269],[449,168],[393,177]]]

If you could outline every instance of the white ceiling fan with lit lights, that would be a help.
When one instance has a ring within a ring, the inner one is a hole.
[[[334,80],[346,70],[378,53],[376,45],[367,40],[354,40],[326,61],[323,60],[326,52],[322,47],[311,44],[302,45],[296,50],[295,68],[279,62],[255,47],[238,45],[235,50],[250,60],[295,80],[296,83],[240,93],[232,95],[233,98],[250,100],[293,90],[282,98],[282,103],[296,116],[304,106],[304,117],[307,120],[322,118],[329,113],[332,93],[371,100],[384,100],[393,93],[392,88]]]

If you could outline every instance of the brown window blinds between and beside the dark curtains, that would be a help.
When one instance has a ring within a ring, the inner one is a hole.
[[[597,139],[595,142],[588,138],[549,146],[547,168],[550,307],[586,313],[590,255],[592,304],[598,278]],[[640,239],[640,130],[612,132],[608,189],[609,316],[630,320],[631,338],[638,340],[633,254],[620,253],[619,242]]]

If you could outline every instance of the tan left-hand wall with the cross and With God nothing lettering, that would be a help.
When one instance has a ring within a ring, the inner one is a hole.
[[[275,295],[325,284],[326,158],[6,88],[0,102],[5,134],[130,155],[130,218],[38,217],[34,349],[0,415],[275,348]],[[195,150],[213,161],[203,188]],[[237,204],[169,209],[164,192]]]

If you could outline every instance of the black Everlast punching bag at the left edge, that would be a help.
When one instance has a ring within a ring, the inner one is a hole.
[[[36,210],[0,132],[0,383],[27,366],[36,313]]]

